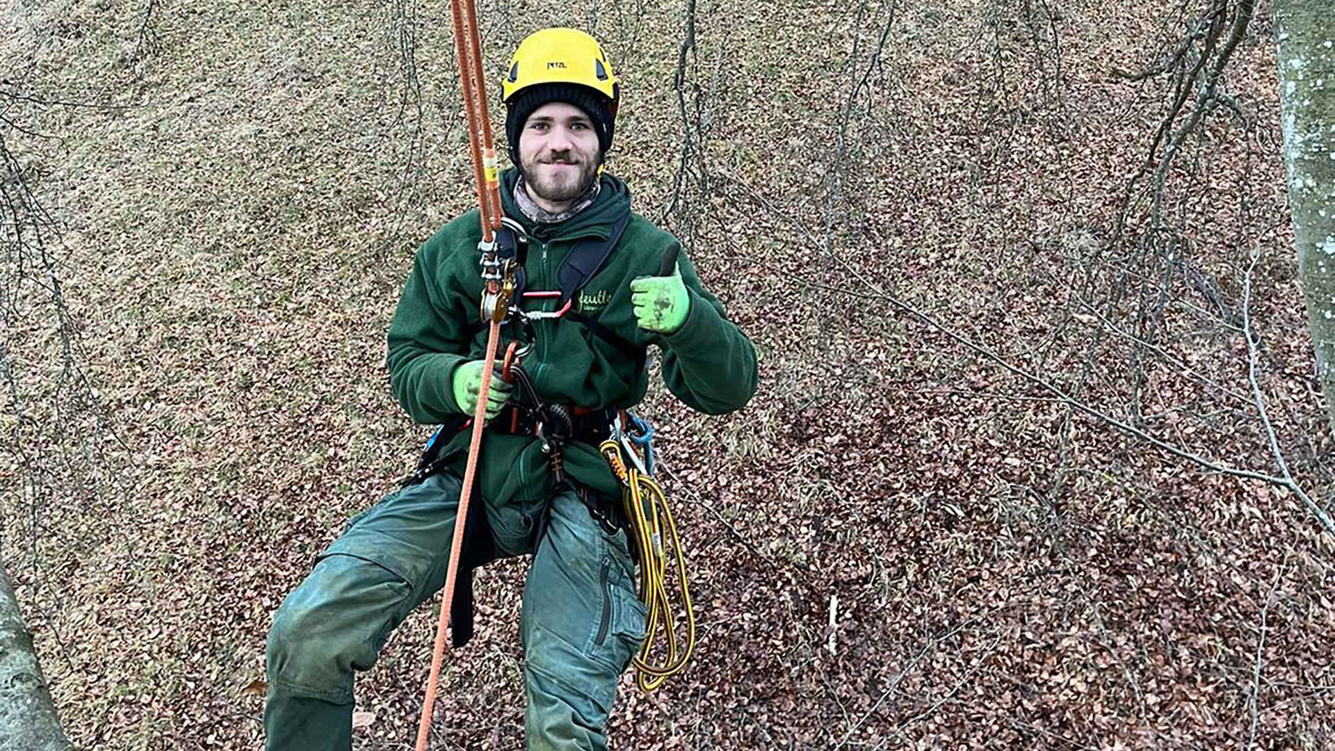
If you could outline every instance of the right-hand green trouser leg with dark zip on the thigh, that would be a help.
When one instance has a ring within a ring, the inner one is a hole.
[[[617,680],[645,636],[633,576],[625,533],[607,535],[558,492],[523,591],[529,751],[606,748]]]

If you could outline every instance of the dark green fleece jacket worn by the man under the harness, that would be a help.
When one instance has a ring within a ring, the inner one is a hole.
[[[630,212],[626,184],[602,175],[597,200],[565,222],[533,224],[514,204],[515,170],[501,175],[501,196],[506,216],[525,224],[530,237],[525,263],[527,289],[557,289],[562,259],[583,238],[606,239],[613,223]],[[442,422],[461,413],[454,400],[454,369],[481,359],[487,333],[474,333],[482,297],[478,241],[482,237],[478,211],[469,211],[445,227],[418,250],[413,273],[403,287],[390,325],[390,385],[403,409],[418,422]],[[631,212],[621,241],[607,261],[578,294],[573,310],[595,319],[642,353],[649,345],[662,349],[662,374],[668,389],[685,404],[709,414],[742,408],[756,393],[756,350],[750,341],[724,314],[724,306],[700,283],[682,253],[681,275],[690,295],[690,313],[677,331],[663,335],[639,329],[630,306],[630,282],[654,275],[663,251],[677,239]],[[551,310],[554,299],[526,301],[525,309]],[[506,334],[502,329],[501,351]],[[590,409],[633,408],[645,396],[647,374],[643,357],[631,358],[582,323],[569,319],[534,322],[535,346],[523,361],[534,390],[550,404]],[[467,432],[446,444],[457,452],[457,469],[463,472]],[[563,452],[569,476],[609,496],[619,485],[597,446],[570,442]],[[529,436],[487,433],[478,462],[482,494],[491,504],[511,498],[535,500],[551,486],[551,472],[541,442]]]

